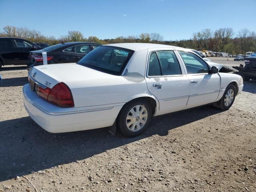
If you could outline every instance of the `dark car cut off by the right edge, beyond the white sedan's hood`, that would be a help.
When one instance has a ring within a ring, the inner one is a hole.
[[[244,63],[245,65],[241,64],[239,67],[234,68],[239,70],[244,81],[249,81],[250,79],[256,80],[256,54],[251,54],[244,58]]]

